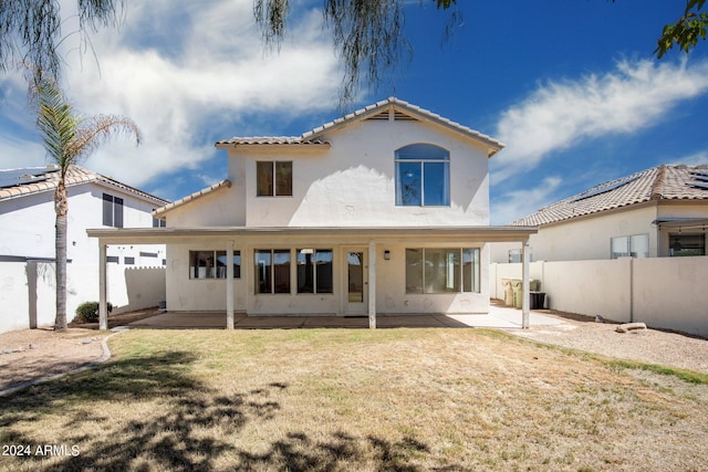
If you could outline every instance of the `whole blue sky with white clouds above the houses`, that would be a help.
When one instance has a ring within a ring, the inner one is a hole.
[[[145,135],[86,167],[175,200],[226,176],[216,140],[299,136],[341,115],[321,0],[292,0],[279,53],[264,52],[252,0],[127,3],[92,50],[75,34],[63,44],[77,109],[131,116]],[[659,164],[708,164],[708,44],[653,54],[683,1],[459,0],[447,42],[434,2],[407,3],[413,59],[354,108],[396,95],[503,141],[490,160],[493,224]],[[0,76],[0,167],[44,164],[21,76]]]

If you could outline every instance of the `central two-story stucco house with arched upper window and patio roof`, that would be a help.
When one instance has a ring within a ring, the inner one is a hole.
[[[90,231],[167,244],[168,311],[487,313],[488,242],[535,232],[489,225],[501,143],[397,98],[216,146],[227,178],[156,210],[167,228]]]

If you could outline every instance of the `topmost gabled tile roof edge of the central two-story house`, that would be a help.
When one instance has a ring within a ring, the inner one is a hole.
[[[447,127],[455,132],[461,133],[468,137],[471,137],[489,148],[489,156],[491,157],[497,151],[501,150],[504,145],[499,140],[481,134],[475,129],[468,128],[467,126],[460,125],[459,123],[452,122],[450,119],[444,118],[440,115],[437,115],[427,109],[420,108],[419,106],[412,105],[408,102],[402,101],[396,97],[388,97],[381,102],[376,102],[373,105],[368,105],[364,108],[357,109],[348,115],[344,115],[340,118],[336,118],[330,123],[325,123],[322,126],[319,126],[314,129],[311,129],[304,133],[302,136],[291,136],[291,137],[233,137],[230,139],[223,139],[216,143],[216,146],[228,146],[228,145],[330,145],[327,140],[320,139],[324,134],[331,132],[332,129],[344,126],[355,119],[384,119],[382,117],[383,113],[387,113],[388,111],[394,111],[395,119],[404,119],[404,120],[417,120],[424,119],[428,122],[436,123],[440,126]]]

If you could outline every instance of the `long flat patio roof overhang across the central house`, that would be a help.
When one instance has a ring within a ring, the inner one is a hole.
[[[105,244],[165,244],[185,238],[279,238],[316,237],[351,240],[410,240],[435,238],[437,241],[522,242],[538,232],[538,227],[196,227],[196,228],[101,228],[88,229],[90,238]]]

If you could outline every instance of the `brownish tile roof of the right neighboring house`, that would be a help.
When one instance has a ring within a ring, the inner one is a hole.
[[[649,200],[708,201],[708,166],[653,167],[549,204],[511,224],[549,224]]]

